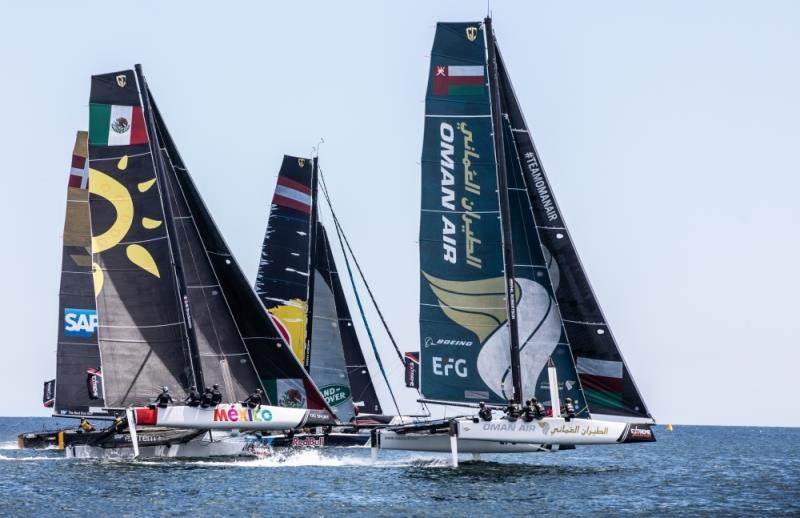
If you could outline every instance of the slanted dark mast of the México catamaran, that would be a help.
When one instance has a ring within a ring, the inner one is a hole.
[[[147,132],[151,135],[149,144],[150,152],[153,155],[153,162],[155,163],[156,184],[157,186],[160,186],[160,188],[167,189],[168,185],[164,173],[164,157],[161,154],[160,145],[158,143],[158,132],[155,125],[155,119],[153,118],[152,106],[150,105],[150,94],[147,89],[147,83],[145,83],[144,74],[142,74],[142,65],[137,63],[134,66],[134,69],[136,70],[136,80],[139,83],[140,95],[142,96],[142,111],[144,113],[145,123],[147,124]],[[167,242],[169,243],[172,270],[175,274],[178,294],[181,298],[181,304],[179,305],[181,307],[181,313],[184,320],[184,330],[186,331],[186,341],[190,352],[190,365],[192,367],[192,374],[194,375],[194,385],[196,387],[204,387],[205,383],[203,380],[202,364],[200,362],[200,349],[197,345],[197,337],[194,334],[192,315],[189,308],[189,294],[186,289],[186,280],[183,276],[183,269],[181,268],[179,261],[180,252],[177,249],[177,243],[173,238],[177,235],[175,230],[175,220],[172,217],[172,207],[170,207],[169,203],[164,203],[163,197],[161,199],[161,206],[164,211],[164,219],[166,220]]]

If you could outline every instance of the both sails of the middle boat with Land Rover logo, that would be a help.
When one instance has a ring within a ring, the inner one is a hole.
[[[327,232],[316,159],[284,156],[270,205],[256,291],[337,417],[381,413]],[[310,318],[309,318],[310,315]]]

